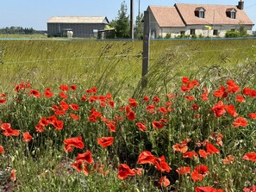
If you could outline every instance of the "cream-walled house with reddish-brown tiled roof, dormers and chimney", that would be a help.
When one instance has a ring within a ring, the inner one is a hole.
[[[253,34],[253,22],[238,5],[175,3],[172,7],[148,6],[151,37],[184,35],[225,36],[229,30],[243,28]]]

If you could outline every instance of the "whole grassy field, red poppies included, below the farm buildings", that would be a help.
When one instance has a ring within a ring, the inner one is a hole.
[[[0,40],[0,191],[256,189],[256,40]]]

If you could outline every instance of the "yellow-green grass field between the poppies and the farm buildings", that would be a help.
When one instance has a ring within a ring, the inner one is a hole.
[[[255,62],[256,39],[152,40],[150,71],[167,79],[205,66],[234,69]],[[142,41],[0,40],[2,87],[8,90],[27,78],[33,84],[122,84],[134,90],[141,77]]]

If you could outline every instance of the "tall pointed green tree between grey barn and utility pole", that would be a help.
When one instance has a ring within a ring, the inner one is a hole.
[[[121,8],[118,10],[116,20],[110,22],[110,26],[116,29],[117,38],[129,37],[129,16],[127,13],[127,5],[125,2],[121,3]]]

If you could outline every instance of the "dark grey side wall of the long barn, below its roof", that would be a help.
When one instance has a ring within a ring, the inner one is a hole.
[[[104,23],[47,23],[48,34],[61,34],[63,29],[71,28],[73,31],[73,37],[92,37],[93,29],[103,30],[105,28]]]

